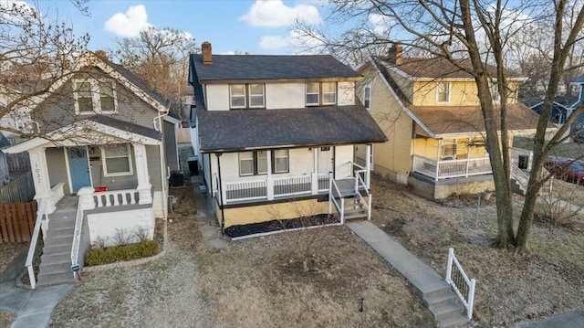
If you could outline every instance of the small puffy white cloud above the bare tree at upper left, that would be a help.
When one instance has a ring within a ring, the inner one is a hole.
[[[140,31],[151,26],[144,5],[132,5],[125,14],[111,16],[103,29],[118,37],[137,37]]]

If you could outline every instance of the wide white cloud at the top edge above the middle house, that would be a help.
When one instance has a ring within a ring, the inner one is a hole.
[[[255,0],[255,4],[239,20],[251,26],[291,26],[295,21],[319,24],[322,19],[314,5],[284,5],[282,0]]]

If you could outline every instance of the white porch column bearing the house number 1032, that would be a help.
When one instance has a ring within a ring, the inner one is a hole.
[[[51,183],[48,179],[47,154],[45,150],[45,147],[30,149],[28,150],[28,156],[35,184],[35,199],[40,203],[41,199],[47,198],[45,213],[50,214],[55,211],[56,207],[50,199]]]

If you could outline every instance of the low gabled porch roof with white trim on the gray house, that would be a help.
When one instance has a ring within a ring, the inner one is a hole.
[[[160,144],[160,138],[160,133],[153,129],[96,115],[49,132],[42,137],[31,138],[6,147],[3,152],[21,153],[40,146],[106,143]]]

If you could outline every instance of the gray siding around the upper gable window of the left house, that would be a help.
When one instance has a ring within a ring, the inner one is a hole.
[[[94,69],[90,74],[78,74],[74,79],[105,79],[99,69]],[[148,128],[153,128],[152,120],[158,112],[150,104],[142,101],[130,90],[116,82],[116,99],[118,101],[118,113],[107,114],[122,121],[133,122]],[[40,124],[41,132],[51,132],[66,126],[72,122],[82,120],[85,115],[75,114],[75,102],[73,98],[73,82],[69,80],[54,94],[47,97],[33,112],[32,118]]]

